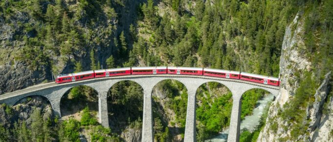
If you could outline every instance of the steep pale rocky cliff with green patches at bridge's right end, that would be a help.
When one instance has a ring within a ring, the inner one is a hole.
[[[305,19],[307,15],[297,14],[294,20],[286,27],[282,54],[280,59],[280,93],[276,101],[269,108],[266,126],[261,131],[257,142],[304,141],[304,142],[332,142],[333,124],[333,97],[330,95],[332,85],[332,72],[315,84],[309,100],[302,100],[305,107],[298,105],[302,113],[296,114],[302,120],[284,117],[290,106],[297,102],[297,92],[302,86],[300,82],[306,79],[306,72],[313,72],[311,78],[316,78],[311,58],[306,56],[305,45]],[[313,59],[312,59],[313,60]],[[318,80],[318,79],[317,79]],[[303,82],[303,84],[311,84]],[[306,89],[306,88],[302,88]],[[315,92],[315,93],[314,93]],[[306,95],[306,94],[303,94]],[[294,105],[295,106],[295,105]],[[303,125],[299,127],[299,125]],[[302,130],[297,130],[302,129]]]

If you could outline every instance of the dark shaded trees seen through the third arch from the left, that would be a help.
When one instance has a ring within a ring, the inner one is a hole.
[[[143,90],[133,81],[115,83],[108,92],[109,118],[122,123],[121,129],[130,126],[135,130],[142,128]],[[116,113],[117,115],[113,115]]]

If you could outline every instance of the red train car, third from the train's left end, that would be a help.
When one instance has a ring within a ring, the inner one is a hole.
[[[132,67],[132,74],[166,74],[167,67]]]

